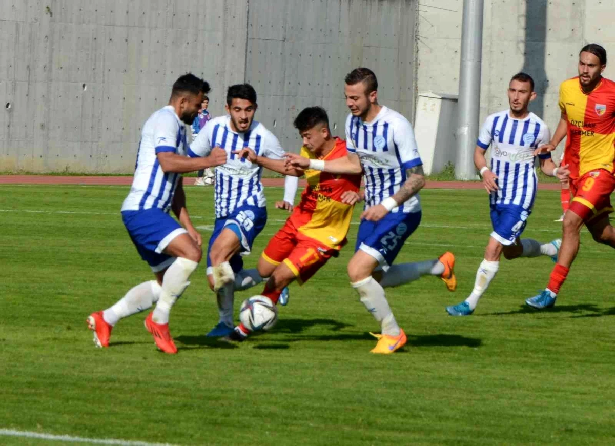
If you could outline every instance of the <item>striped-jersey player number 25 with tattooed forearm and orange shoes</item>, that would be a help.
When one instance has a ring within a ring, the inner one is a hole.
[[[383,287],[434,275],[442,277],[453,291],[454,256],[446,252],[439,259],[392,265],[421,221],[418,191],[425,185],[423,162],[410,122],[378,104],[378,81],[371,70],[353,70],[346,76],[344,90],[351,111],[346,119],[348,155],[333,160],[286,156],[288,165],[299,169],[363,172],[365,210],[348,275],[363,305],[381,325],[382,333],[374,335],[378,343],[371,352],[388,354],[401,348],[407,338],[395,321]]]

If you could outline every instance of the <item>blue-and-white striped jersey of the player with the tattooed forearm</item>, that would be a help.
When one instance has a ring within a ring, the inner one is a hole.
[[[423,164],[408,119],[383,106],[371,122],[349,114],[346,147],[361,160],[365,175],[365,209],[393,196],[406,181],[406,169]],[[391,212],[419,212],[419,194]]]

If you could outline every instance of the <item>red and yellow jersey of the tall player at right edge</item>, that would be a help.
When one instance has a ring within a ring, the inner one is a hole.
[[[570,165],[570,177],[595,169],[613,172],[615,82],[602,78],[589,94],[581,90],[578,77],[561,82],[560,109],[568,115],[563,162]]]

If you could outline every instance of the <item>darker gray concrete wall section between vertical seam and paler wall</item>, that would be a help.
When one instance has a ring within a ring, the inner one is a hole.
[[[414,1],[250,0],[248,14],[246,81],[285,148],[300,148],[292,122],[306,106],[323,106],[344,138],[344,77],[357,66],[376,73],[379,102],[412,116]]]

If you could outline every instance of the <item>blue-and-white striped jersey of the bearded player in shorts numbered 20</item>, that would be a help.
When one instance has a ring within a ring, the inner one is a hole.
[[[264,207],[266,205],[261,183],[263,167],[241,159],[234,150],[249,147],[260,156],[282,159],[284,149],[263,124],[253,121],[245,133],[231,130],[230,116],[210,119],[188,149],[189,156],[207,156],[218,146],[226,150],[226,164],[216,167],[215,207],[216,218],[224,218],[244,204]]]

